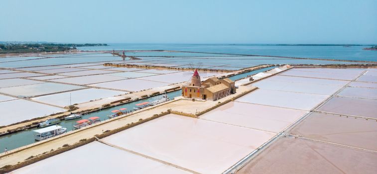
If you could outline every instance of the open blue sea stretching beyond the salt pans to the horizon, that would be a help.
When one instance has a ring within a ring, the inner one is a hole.
[[[233,44],[129,44],[79,47],[79,50],[174,50],[188,52],[283,56],[295,58],[376,61],[377,51],[363,50],[370,46],[299,46],[299,45],[233,45]]]

